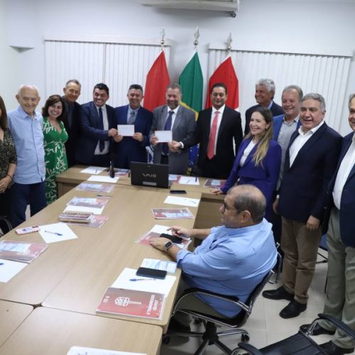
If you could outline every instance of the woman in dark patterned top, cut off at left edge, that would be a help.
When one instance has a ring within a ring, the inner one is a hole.
[[[0,96],[0,216],[8,217],[10,191],[16,170],[17,155],[15,144],[7,124],[4,100]]]

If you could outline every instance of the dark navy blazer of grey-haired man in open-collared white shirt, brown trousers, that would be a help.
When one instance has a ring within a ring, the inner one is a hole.
[[[322,220],[327,187],[337,168],[342,136],[324,122],[298,152],[290,167],[290,146],[299,135],[291,136],[280,185],[278,212],[287,219],[306,223]]]

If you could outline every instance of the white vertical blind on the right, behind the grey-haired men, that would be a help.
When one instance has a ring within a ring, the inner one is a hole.
[[[209,77],[224,58],[226,50],[209,49]],[[256,81],[271,78],[275,81],[278,104],[283,88],[290,84],[300,86],[305,94],[322,94],[327,106],[325,120],[340,130],[351,57],[232,50],[231,58],[239,79],[239,111],[243,119],[246,109],[256,104]]]

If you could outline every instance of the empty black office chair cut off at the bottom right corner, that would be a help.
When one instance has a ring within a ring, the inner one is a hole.
[[[320,313],[318,315],[319,318],[314,320],[307,330],[306,333],[298,332],[297,334],[292,335],[286,339],[281,340],[280,342],[276,342],[274,344],[268,345],[262,349],[256,349],[251,344],[239,343],[238,348],[234,349],[232,355],[239,354],[239,351],[242,350],[243,354],[251,354],[251,355],[290,355],[290,354],[299,354],[299,355],[317,355],[317,354],[327,354],[320,345],[318,345],[313,339],[310,338],[310,334],[312,334],[313,328],[315,324],[319,320],[328,320],[332,322],[336,327],[342,329],[344,333],[349,335],[352,339],[355,340],[355,332],[353,329],[349,328],[343,322],[337,320],[336,318],[324,315]],[[245,353],[247,351],[247,353]]]

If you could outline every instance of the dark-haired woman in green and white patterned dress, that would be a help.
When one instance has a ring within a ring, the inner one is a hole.
[[[42,109],[45,149],[45,198],[47,204],[57,200],[55,177],[67,170],[67,155],[64,143],[68,135],[60,117],[65,111],[64,99],[51,95]]]

